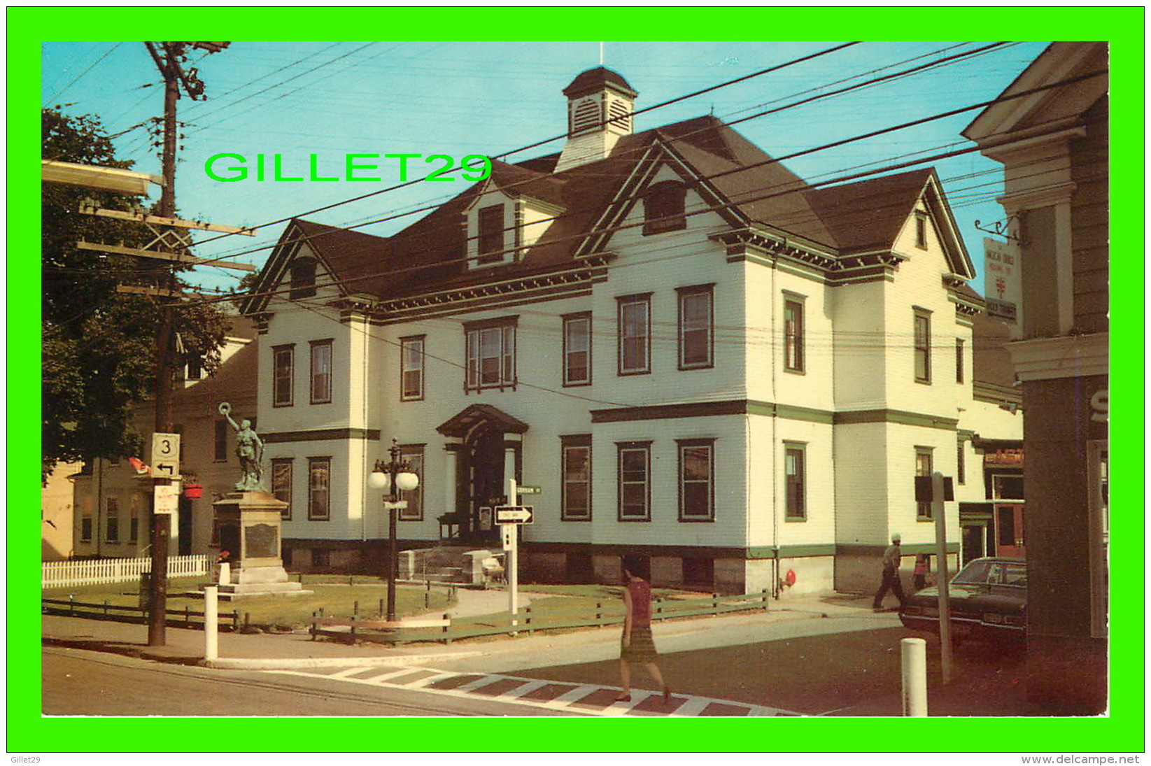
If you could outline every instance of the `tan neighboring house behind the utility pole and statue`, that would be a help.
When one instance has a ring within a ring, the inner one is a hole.
[[[221,365],[211,377],[193,365],[184,369],[183,382],[173,397],[173,420],[181,434],[181,473],[184,476],[180,507],[173,514],[169,554],[208,553],[216,547],[212,501],[233,491],[239,480],[235,454],[235,430],[220,415],[221,401],[230,401],[233,418],[256,418],[257,344],[251,324],[243,317],[221,348]],[[155,424],[154,407],[146,401],[136,407],[136,430],[147,451]],[[76,557],[134,558],[145,556],[150,537],[153,481],[140,474],[132,460],[97,459],[71,476],[75,484],[73,554]],[[189,489],[189,484],[200,490]],[[198,495],[198,497],[192,497]]]

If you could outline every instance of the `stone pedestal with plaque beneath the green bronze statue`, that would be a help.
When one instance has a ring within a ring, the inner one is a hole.
[[[212,506],[220,523],[220,544],[231,552],[229,582],[220,583],[222,600],[312,593],[288,581],[281,558],[280,520],[287,503],[267,492],[244,491],[231,492]]]

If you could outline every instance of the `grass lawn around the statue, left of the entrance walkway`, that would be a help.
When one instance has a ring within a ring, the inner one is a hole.
[[[326,582],[325,582],[326,581]],[[204,611],[204,599],[190,597],[189,591],[196,591],[204,580],[199,577],[174,579],[168,581],[168,608],[180,611],[185,606],[193,612]],[[245,620],[252,626],[304,627],[312,619],[312,612],[323,610],[328,616],[349,616],[357,604],[361,616],[378,616],[381,604],[388,597],[387,584],[376,577],[355,577],[353,584],[348,584],[343,577],[304,577],[304,588],[314,591],[311,596],[268,596],[247,597],[235,602],[220,602],[220,613],[239,612],[241,622]],[[139,583],[123,582],[104,585],[84,585],[78,588],[56,588],[44,591],[44,598],[67,599],[69,595],[85,604],[102,604],[136,606],[139,603]],[[422,585],[401,585],[396,590],[396,614],[406,616],[424,612],[442,611],[455,599],[450,599],[443,590],[426,590]]]

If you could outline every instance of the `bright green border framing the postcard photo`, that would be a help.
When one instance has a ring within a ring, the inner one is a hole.
[[[1112,44],[1112,252],[1128,253],[1125,278],[1112,283],[1113,345],[1112,708],[1098,719],[909,719],[898,734],[871,719],[455,719],[444,736],[436,719],[245,719],[244,735],[220,742],[229,751],[312,752],[378,749],[485,751],[822,751],[917,749],[961,752],[1009,748],[1020,752],[1142,752],[1144,749],[1144,506],[1143,476],[1143,62],[1144,9],[1128,8],[8,8],[8,752],[181,752],[188,719],[40,717],[38,645],[39,521],[31,511],[39,488],[28,435],[36,432],[39,344],[26,330],[39,316],[37,252],[39,44],[51,39],[183,38],[343,39],[374,31],[381,39],[503,39],[567,37],[572,14],[602,13],[615,29],[649,40],[754,39],[1103,39]],[[61,26],[61,18],[67,24]],[[355,22],[355,23],[352,23]],[[733,23],[735,22],[735,23]],[[84,35],[76,33],[84,30]],[[487,30],[487,32],[486,32]],[[534,35],[528,35],[528,30]],[[552,32],[554,30],[554,32]],[[733,35],[734,32],[734,35]],[[914,35],[909,35],[914,33]],[[29,365],[29,367],[24,367]],[[764,668],[770,673],[770,668]],[[876,727],[885,734],[876,736]],[[961,727],[961,728],[960,728]],[[973,727],[978,736],[973,737]],[[200,729],[204,730],[204,729]],[[963,734],[966,731],[966,734]],[[638,736],[639,735],[639,736]],[[829,736],[830,735],[830,736]],[[212,740],[207,740],[212,742]]]

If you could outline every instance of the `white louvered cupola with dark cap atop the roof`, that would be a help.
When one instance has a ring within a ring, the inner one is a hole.
[[[596,67],[564,89],[567,97],[567,143],[556,173],[602,160],[620,136],[632,133],[638,93],[619,72]]]

